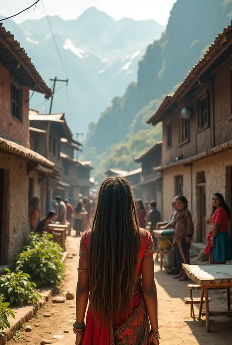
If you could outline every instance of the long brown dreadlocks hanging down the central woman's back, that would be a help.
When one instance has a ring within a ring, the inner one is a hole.
[[[129,182],[111,177],[100,187],[90,242],[90,305],[107,325],[128,316],[132,304],[140,235]]]

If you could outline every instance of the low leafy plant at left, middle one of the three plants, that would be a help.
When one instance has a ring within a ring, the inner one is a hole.
[[[4,270],[5,275],[0,276],[0,293],[5,299],[15,305],[25,303],[36,303],[40,294],[36,291],[36,284],[30,281],[30,276],[23,271],[11,272],[8,268]]]

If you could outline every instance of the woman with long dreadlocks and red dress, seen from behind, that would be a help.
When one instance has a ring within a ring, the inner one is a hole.
[[[81,236],[76,345],[159,345],[153,253],[151,234],[139,228],[129,182],[108,178],[93,227]]]

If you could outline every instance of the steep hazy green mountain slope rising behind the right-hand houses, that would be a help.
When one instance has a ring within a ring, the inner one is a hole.
[[[162,136],[161,126],[152,129],[146,119],[164,94],[175,90],[231,18],[232,0],[174,3],[166,31],[139,61],[137,82],[129,84],[123,96],[115,97],[91,128],[85,158],[99,165],[97,179],[110,167],[138,167],[133,158]]]

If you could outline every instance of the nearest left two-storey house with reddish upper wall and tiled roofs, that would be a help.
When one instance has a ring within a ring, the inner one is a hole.
[[[51,90],[14,36],[0,23],[0,265],[8,265],[29,236],[28,175],[54,163],[29,149],[29,90]]]

